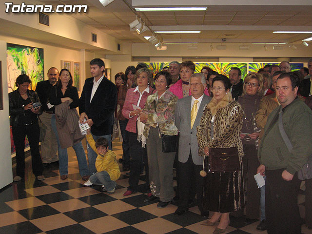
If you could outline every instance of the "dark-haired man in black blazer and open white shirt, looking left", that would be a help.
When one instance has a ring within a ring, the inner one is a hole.
[[[92,78],[85,80],[81,97],[79,98],[80,122],[86,122],[91,127],[91,134],[95,140],[104,137],[109,141],[112,150],[111,134],[114,124],[114,111],[117,105],[116,85],[104,76],[105,64],[101,59],[90,61]],[[89,172],[97,172],[95,162],[97,158],[90,145],[87,144]]]

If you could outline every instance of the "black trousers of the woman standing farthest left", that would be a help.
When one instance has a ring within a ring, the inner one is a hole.
[[[43,167],[39,153],[39,124],[31,124],[26,126],[12,127],[12,135],[16,150],[16,174],[17,176],[25,176],[25,137],[27,136],[30,152],[33,173],[35,176],[41,176]]]

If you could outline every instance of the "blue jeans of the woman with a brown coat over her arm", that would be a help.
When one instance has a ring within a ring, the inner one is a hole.
[[[53,114],[51,117],[51,126],[55,133],[55,136],[58,141],[58,147],[59,147],[59,174],[60,176],[68,175],[68,155],[67,155],[67,149],[62,149],[60,147],[59,143],[59,134],[57,131],[57,125],[56,125],[56,119],[55,115]],[[78,166],[79,166],[79,174],[80,176],[88,176],[89,170],[88,170],[88,163],[86,159],[86,154],[84,153],[84,149],[82,146],[81,141],[78,142],[76,145],[73,145],[73,148],[76,152],[77,160],[78,160]]]

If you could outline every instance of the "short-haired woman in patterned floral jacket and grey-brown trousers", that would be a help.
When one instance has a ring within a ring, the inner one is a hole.
[[[175,110],[177,97],[168,89],[172,77],[168,72],[156,74],[156,93],[150,95],[140,112],[140,120],[145,123],[147,157],[149,163],[150,188],[152,196],[144,200],[150,203],[160,200],[157,208],[166,207],[174,197],[173,165],[176,152],[163,152],[161,135],[176,136]],[[173,137],[173,141],[176,137]],[[177,143],[177,142],[176,142]]]

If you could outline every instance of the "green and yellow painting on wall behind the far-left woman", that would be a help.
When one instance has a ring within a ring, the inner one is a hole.
[[[26,74],[32,80],[30,89],[34,90],[44,79],[43,49],[11,43],[6,46],[8,92],[17,89],[15,81],[20,74]]]

